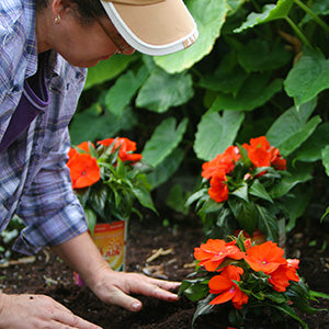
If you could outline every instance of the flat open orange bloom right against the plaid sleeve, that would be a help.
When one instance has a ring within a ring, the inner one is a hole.
[[[73,189],[92,185],[100,180],[101,173],[95,158],[87,154],[76,154],[68,162]]]

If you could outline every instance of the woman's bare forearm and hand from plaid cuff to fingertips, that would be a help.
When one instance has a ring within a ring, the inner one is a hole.
[[[178,282],[111,270],[88,232],[54,246],[52,249],[81,275],[86,284],[104,303],[136,311],[143,305],[128,294],[140,294],[168,302],[178,299],[178,296],[170,292],[179,287]]]

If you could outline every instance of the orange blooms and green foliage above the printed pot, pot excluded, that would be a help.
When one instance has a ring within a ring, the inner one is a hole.
[[[148,168],[135,150],[135,141],[121,137],[70,148],[67,166],[91,231],[97,222],[127,220],[132,212],[139,214],[135,200],[156,212],[145,174]]]

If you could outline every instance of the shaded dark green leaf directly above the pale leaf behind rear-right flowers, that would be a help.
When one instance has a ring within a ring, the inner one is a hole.
[[[236,97],[226,93],[219,94],[209,111],[252,111],[260,107],[282,89],[281,79],[275,79],[270,83],[268,81],[266,75],[251,75],[245,80]]]

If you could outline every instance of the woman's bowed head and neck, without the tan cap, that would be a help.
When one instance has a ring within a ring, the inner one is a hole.
[[[55,49],[73,66],[91,67],[132,48],[95,0],[36,0],[38,53]],[[124,50],[122,45],[124,45]]]

